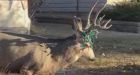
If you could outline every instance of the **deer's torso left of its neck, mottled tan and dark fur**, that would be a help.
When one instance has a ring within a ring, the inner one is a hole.
[[[0,69],[19,72],[24,65],[40,67],[49,54],[46,45],[0,33]],[[5,38],[4,38],[5,37]]]

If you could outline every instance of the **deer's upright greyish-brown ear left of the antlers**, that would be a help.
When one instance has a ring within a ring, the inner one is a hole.
[[[74,24],[72,29],[74,30],[76,36],[79,36],[80,32],[83,32],[81,18],[74,16],[73,22]]]

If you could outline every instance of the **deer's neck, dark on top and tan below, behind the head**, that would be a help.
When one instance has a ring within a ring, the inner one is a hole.
[[[80,50],[77,49],[78,45],[74,36],[68,37],[58,44],[52,53],[52,58],[65,68],[79,59]]]

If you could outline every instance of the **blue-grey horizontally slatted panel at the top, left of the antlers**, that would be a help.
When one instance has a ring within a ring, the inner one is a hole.
[[[46,0],[40,7],[42,12],[87,12],[96,0]],[[101,7],[106,0],[99,0],[97,7]]]

